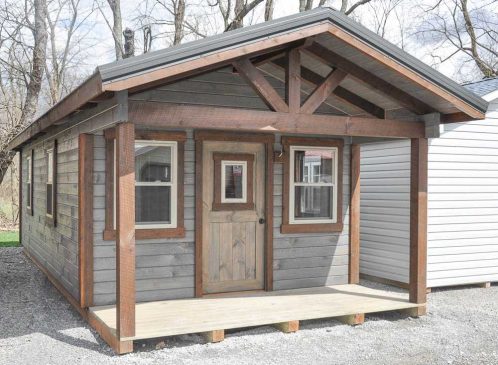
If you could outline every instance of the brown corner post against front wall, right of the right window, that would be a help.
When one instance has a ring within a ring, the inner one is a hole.
[[[351,145],[349,206],[349,283],[360,282],[360,145]]]

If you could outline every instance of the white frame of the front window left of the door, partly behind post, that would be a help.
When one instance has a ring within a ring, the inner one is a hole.
[[[114,187],[117,183],[116,174],[116,141],[114,140]],[[177,228],[177,206],[178,206],[178,142],[176,141],[154,141],[154,140],[135,140],[135,144],[140,143],[147,146],[171,147],[171,181],[170,182],[137,182],[135,186],[171,186],[171,223],[169,224],[136,224],[135,229],[166,229]],[[114,229],[116,229],[116,188],[114,190]],[[136,198],[135,198],[136,199]]]

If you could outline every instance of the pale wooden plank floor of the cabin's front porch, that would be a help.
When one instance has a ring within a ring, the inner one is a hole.
[[[418,306],[410,303],[408,294],[405,293],[350,284],[137,303],[135,336],[121,338],[121,341],[402,310]],[[90,311],[115,333],[114,305],[92,307]]]

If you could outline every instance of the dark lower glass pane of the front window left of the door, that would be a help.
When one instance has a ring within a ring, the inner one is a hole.
[[[171,223],[171,187],[136,186],[135,221],[137,225]]]

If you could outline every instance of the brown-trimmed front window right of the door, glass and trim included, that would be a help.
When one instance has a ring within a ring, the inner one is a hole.
[[[283,137],[283,233],[342,230],[342,141]]]

